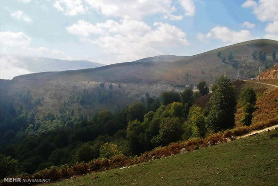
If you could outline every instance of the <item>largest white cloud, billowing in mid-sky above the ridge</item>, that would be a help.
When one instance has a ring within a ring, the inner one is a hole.
[[[115,56],[117,62],[160,55],[162,48],[190,44],[187,34],[175,26],[161,22],[155,22],[153,26],[128,19],[97,24],[78,21],[67,30],[100,46],[106,55]]]

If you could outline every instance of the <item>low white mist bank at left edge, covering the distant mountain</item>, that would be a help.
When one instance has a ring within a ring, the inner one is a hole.
[[[19,67],[20,61],[8,55],[0,55],[0,79],[12,79],[15,76],[32,73],[31,71]]]

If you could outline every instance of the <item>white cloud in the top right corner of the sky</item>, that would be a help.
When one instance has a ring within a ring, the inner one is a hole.
[[[259,0],[258,3],[253,0],[247,0],[242,7],[252,8],[253,13],[260,21],[278,20],[277,0]]]

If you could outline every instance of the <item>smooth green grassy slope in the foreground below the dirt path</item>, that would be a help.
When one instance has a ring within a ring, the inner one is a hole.
[[[276,185],[277,175],[278,131],[273,130],[48,185]]]

